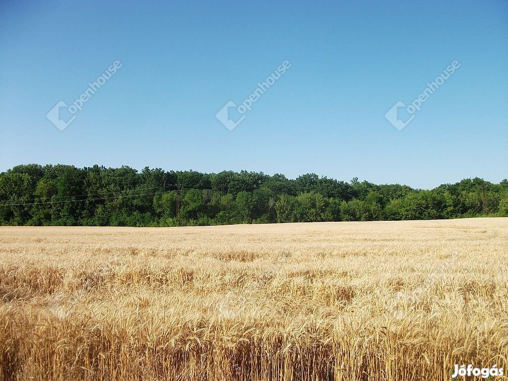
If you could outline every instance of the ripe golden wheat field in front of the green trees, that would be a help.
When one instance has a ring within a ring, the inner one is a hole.
[[[505,367],[508,218],[0,228],[0,356],[2,380]]]

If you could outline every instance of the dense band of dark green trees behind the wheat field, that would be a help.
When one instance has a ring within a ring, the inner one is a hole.
[[[508,181],[432,190],[313,173],[21,165],[0,173],[1,225],[179,226],[508,216]]]

